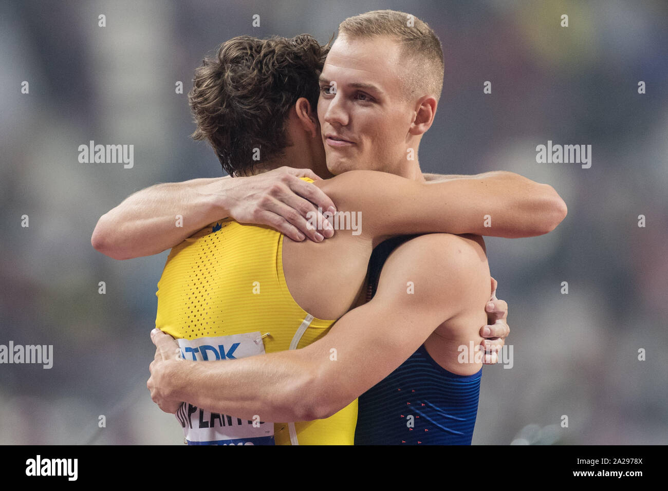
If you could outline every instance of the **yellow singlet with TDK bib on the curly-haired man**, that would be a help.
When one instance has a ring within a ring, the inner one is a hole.
[[[335,322],[316,319],[290,294],[283,275],[283,234],[230,218],[172,249],[156,295],[156,327],[178,339],[186,359],[298,349],[324,336]],[[265,436],[271,424],[258,424],[261,406],[257,414],[257,422],[242,421],[184,403],[176,416],[189,444],[271,444],[274,440]],[[275,423],[273,434],[279,445],[352,445],[356,422],[357,399],[324,420]]]

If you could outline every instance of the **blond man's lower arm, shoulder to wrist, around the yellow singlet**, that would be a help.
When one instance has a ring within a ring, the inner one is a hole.
[[[455,236],[446,238],[454,249],[444,247],[440,236],[421,236],[399,247],[383,267],[375,297],[315,343],[235,361],[154,361],[149,388],[153,383],[168,399],[240,418],[331,416],[401,365],[442,322],[473,308],[484,323],[490,285],[482,248]],[[406,291],[407,280],[415,283],[413,294]]]

